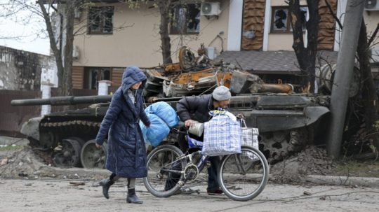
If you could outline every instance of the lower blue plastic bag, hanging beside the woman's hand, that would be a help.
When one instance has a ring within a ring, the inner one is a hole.
[[[143,134],[145,143],[149,143],[152,146],[158,146],[164,138],[170,133],[170,128],[166,125],[164,120],[158,117],[158,115],[146,113],[150,120],[150,127],[146,127],[142,121],[140,121],[140,127]]]

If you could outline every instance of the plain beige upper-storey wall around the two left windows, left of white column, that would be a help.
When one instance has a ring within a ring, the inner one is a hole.
[[[75,36],[74,45],[79,46],[79,61],[74,66],[157,66],[162,63],[159,36],[159,11],[157,8],[147,8],[142,4],[140,9],[132,10],[125,3],[107,4],[114,6],[114,30],[112,35]],[[211,46],[220,52],[221,45],[227,46],[227,20],[229,1],[221,1],[221,10],[218,19],[209,20],[201,16],[199,35],[171,36],[173,62],[178,62],[177,50],[186,45],[197,50],[201,43]],[[82,15],[86,20],[87,15]],[[86,24],[84,22],[84,24]],[[85,28],[85,27],[84,27]],[[216,36],[221,34],[222,42]],[[226,50],[226,49],[224,49]]]

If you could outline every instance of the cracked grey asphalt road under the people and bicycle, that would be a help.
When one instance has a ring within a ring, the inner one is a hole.
[[[126,203],[125,185],[118,181],[105,199],[95,181],[0,178],[0,211],[379,211],[379,188],[267,185],[255,199],[236,202],[207,195],[205,185],[192,188],[198,192],[157,198],[138,180],[144,204],[137,205]]]

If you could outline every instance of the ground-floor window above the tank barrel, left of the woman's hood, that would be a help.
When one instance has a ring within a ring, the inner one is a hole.
[[[105,67],[88,67],[86,68],[84,77],[84,88],[98,89],[98,81],[111,79],[111,68]]]

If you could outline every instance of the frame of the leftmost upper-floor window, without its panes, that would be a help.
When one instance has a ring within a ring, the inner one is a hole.
[[[92,18],[91,18],[91,10],[98,10],[97,13],[100,13],[100,24],[99,24],[99,31],[93,31],[93,21],[92,21]],[[106,29],[106,20],[105,20],[105,14],[106,13],[109,13],[109,12],[112,12],[112,20],[111,20],[111,24],[112,24],[112,30],[107,32],[105,31]],[[114,6],[93,6],[93,7],[90,7],[88,8],[88,18],[87,18],[87,34],[93,34],[93,35],[96,35],[96,34],[100,34],[100,35],[107,35],[107,34],[113,34],[113,20],[114,20]]]

